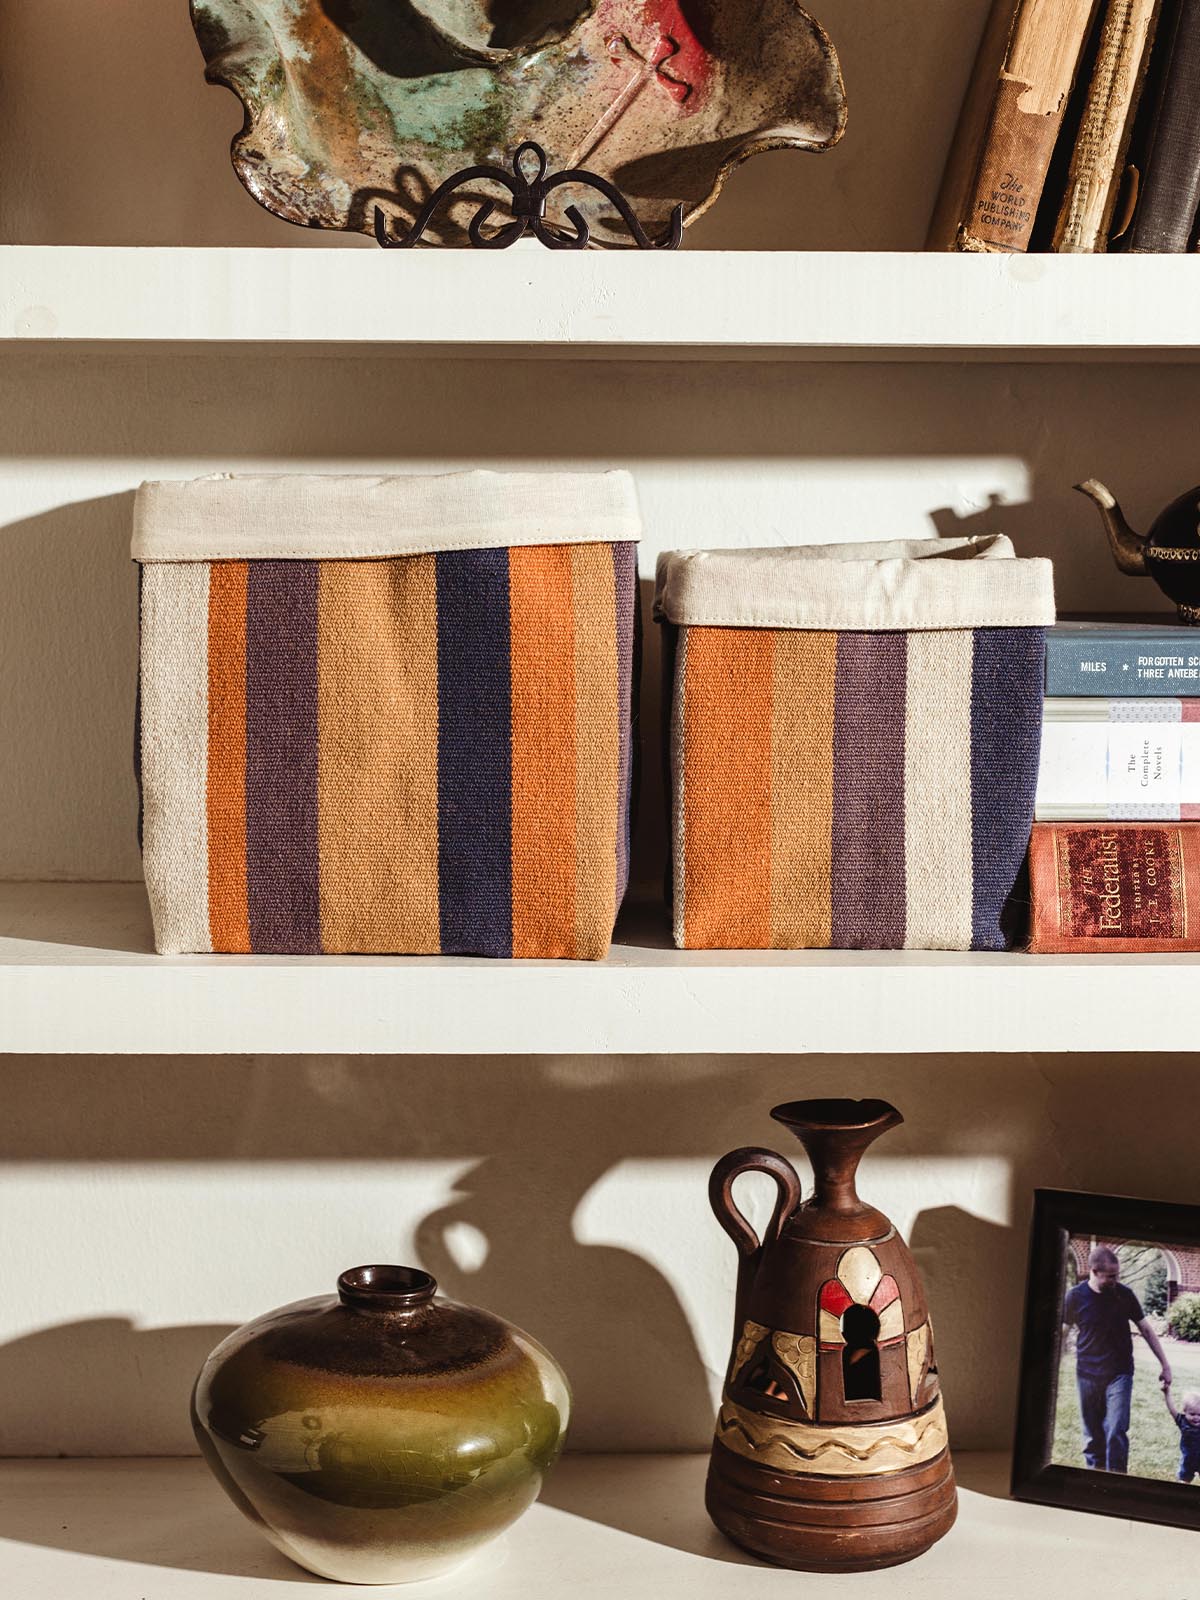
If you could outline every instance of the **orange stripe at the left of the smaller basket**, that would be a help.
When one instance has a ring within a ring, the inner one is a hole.
[[[688,629],[683,942],[771,946],[770,629]]]

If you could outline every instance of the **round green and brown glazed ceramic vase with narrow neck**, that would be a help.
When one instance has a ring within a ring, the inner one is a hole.
[[[533,1504],[570,1389],[536,1339],[437,1299],[411,1267],[355,1267],[336,1296],[230,1333],[192,1426],[234,1504],[322,1578],[403,1584],[466,1562]]]

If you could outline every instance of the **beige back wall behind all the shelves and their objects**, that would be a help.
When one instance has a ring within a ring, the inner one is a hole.
[[[259,211],[184,0],[0,0],[0,238],[328,245]],[[984,0],[818,6],[845,144],[771,155],[709,248],[920,243]],[[502,307],[498,307],[502,315]],[[702,323],[704,307],[696,307]],[[0,875],[136,877],[130,491],[232,467],[630,466],[658,549],[1002,526],[1067,606],[1147,606],[1069,491],[1197,474],[1192,366],[421,362],[158,350],[0,365]],[[995,504],[992,504],[995,501]],[[661,872],[656,648],[643,885]],[[981,1040],[986,1043],[986,1040]],[[541,1334],[576,1443],[702,1446],[733,1250],[712,1160],[800,1093],[907,1115],[866,1189],[928,1274],[960,1443],[1002,1443],[1035,1184],[1192,1198],[1192,1059],[3,1059],[0,1451],[190,1448],[211,1342],[371,1258]],[[1136,1094],[1138,1115],[1130,1114]]]

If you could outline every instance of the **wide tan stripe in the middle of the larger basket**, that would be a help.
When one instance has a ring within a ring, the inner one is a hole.
[[[322,562],[317,675],[322,946],[437,952],[437,557]]]

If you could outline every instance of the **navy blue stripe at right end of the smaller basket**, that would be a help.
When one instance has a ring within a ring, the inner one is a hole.
[[[1042,749],[1042,627],[979,627],[971,667],[971,949],[1003,950],[1002,926],[1029,848]]]

